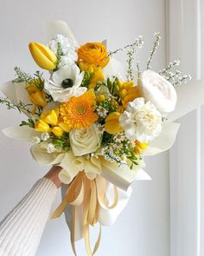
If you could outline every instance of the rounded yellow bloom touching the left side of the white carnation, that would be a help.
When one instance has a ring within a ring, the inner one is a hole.
[[[112,112],[105,118],[105,131],[111,135],[115,135],[121,131],[123,128],[119,124],[120,113]]]

